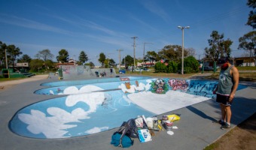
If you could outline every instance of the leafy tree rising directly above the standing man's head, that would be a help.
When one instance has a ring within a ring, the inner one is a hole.
[[[218,34],[218,31],[212,31],[211,38],[208,40],[209,46],[205,48],[206,58],[217,61],[218,58],[230,56],[233,41],[224,40],[224,34]],[[226,54],[226,55],[225,55]]]

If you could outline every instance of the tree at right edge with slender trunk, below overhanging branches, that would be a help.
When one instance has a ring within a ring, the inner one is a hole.
[[[256,55],[256,31],[250,31],[244,34],[243,37],[239,38],[238,49],[244,49],[250,52],[250,66],[251,66],[251,55],[254,51],[254,56]]]

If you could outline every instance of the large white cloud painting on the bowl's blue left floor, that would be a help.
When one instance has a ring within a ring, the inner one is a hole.
[[[66,106],[72,107],[81,101],[89,106],[89,110],[84,111],[82,108],[77,108],[72,110],[72,113],[69,113],[60,108],[49,107],[47,108],[47,113],[51,116],[46,116],[46,114],[39,110],[31,110],[31,114],[20,113],[18,114],[18,118],[28,124],[27,130],[34,134],[43,133],[48,139],[67,137],[64,136],[68,133],[66,129],[77,126],[67,123],[80,122],[79,119],[90,118],[90,113],[95,113],[97,106],[101,105],[104,100],[104,92],[69,95],[66,98]],[[97,130],[88,130],[87,132],[96,133],[105,128],[101,127]]]

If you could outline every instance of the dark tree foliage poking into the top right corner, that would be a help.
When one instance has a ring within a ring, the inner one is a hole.
[[[248,7],[252,7],[253,10],[250,11],[248,21],[246,25],[251,26],[253,29],[256,28],[256,1],[255,0],[248,0],[247,1]]]

